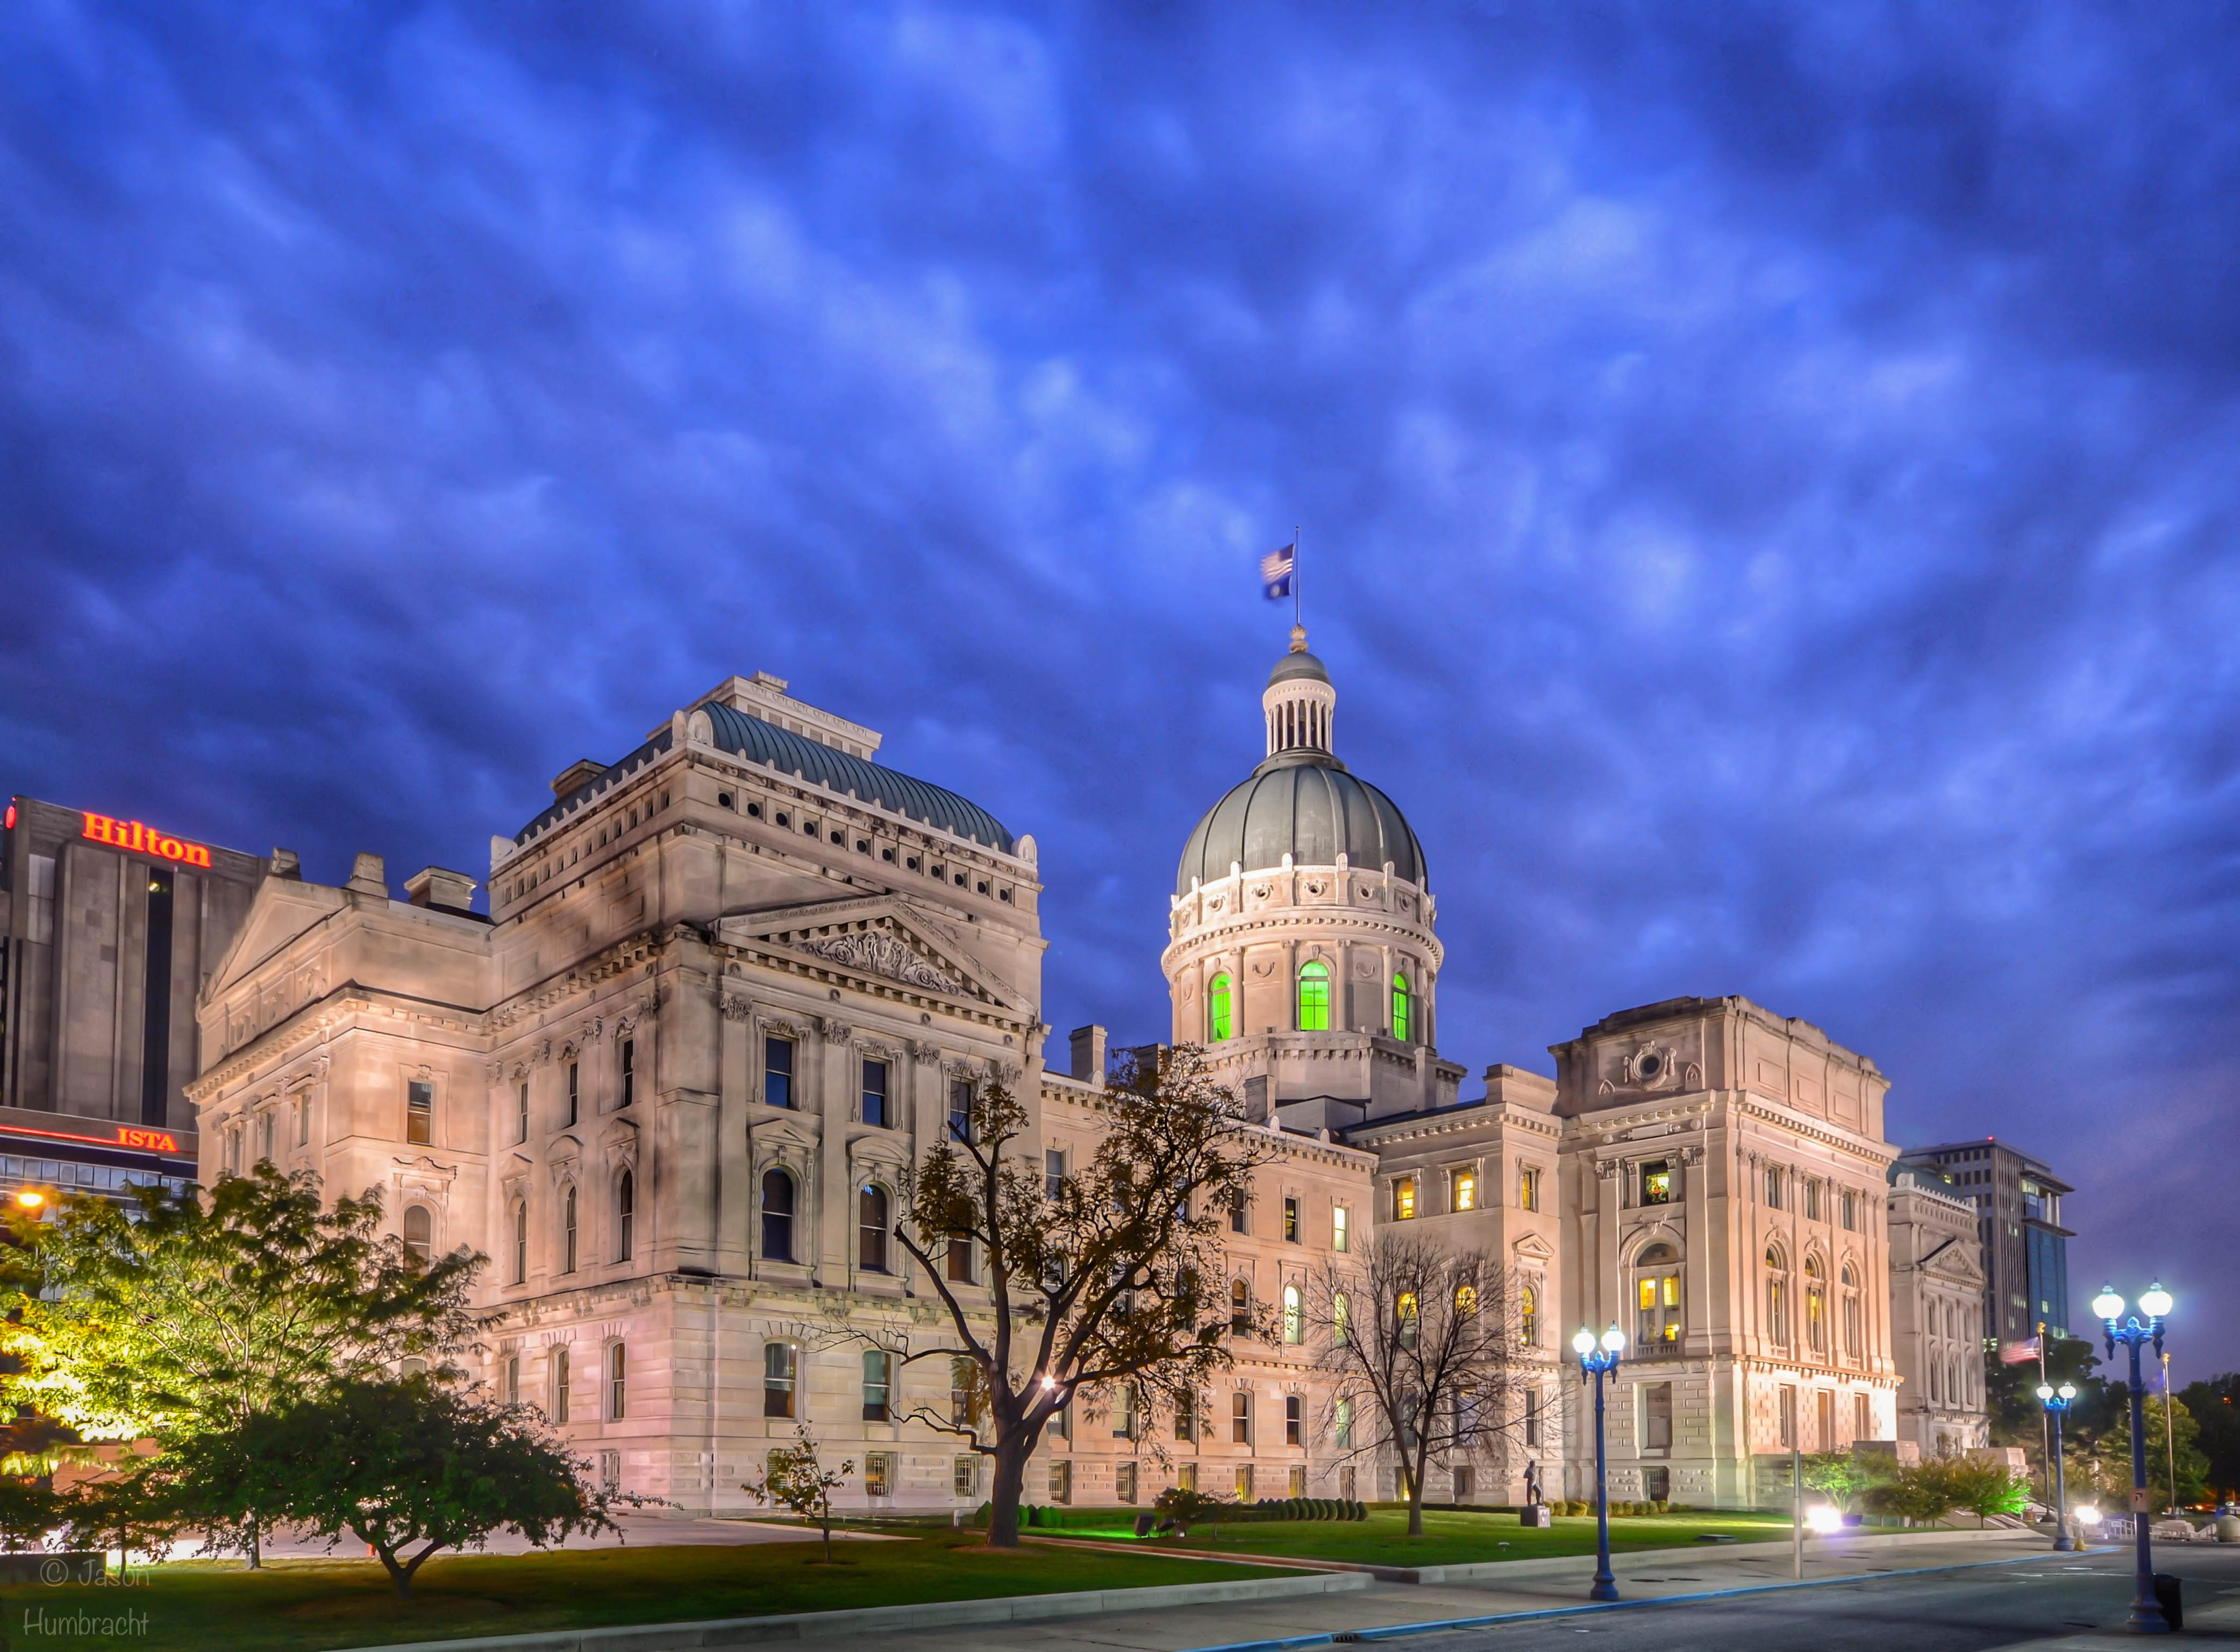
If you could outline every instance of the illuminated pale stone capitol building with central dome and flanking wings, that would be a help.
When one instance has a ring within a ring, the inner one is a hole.
[[[1474,1076],[1440,1049],[1425,845],[1337,755],[1304,632],[1263,724],[1261,762],[1178,845],[1158,959],[1172,1040],[1203,1045],[1270,1139],[1232,1291],[1290,1302],[1391,1226],[1499,1260],[1539,1376],[1510,1459],[1438,1470],[1429,1502],[1516,1502],[1528,1466],[1590,1495],[1581,1325],[1631,1338],[1613,1497],[1747,1506],[1756,1461],[1792,1441],[1895,1439],[1875,1062],[1743,997],[1676,997],[1552,1045],[1552,1078]],[[202,1179],[309,1168],[381,1188],[414,1251],[486,1253],[482,1376],[623,1491],[744,1513],[741,1482],[806,1423],[858,1466],[844,1506],[977,1506],[981,1461],[903,1421],[948,1410],[945,1363],[836,1327],[939,1345],[892,1231],[979,1085],[1026,1101],[1048,1170],[1082,1163],[1127,1092],[1102,1029],[1042,1022],[1035,838],[878,751],[757,672],[569,767],[491,841],[486,917],[459,872],[394,899],[374,854],[343,885],[276,856],[197,1000]],[[986,1302],[974,1271],[943,1257],[948,1289]],[[1326,1437],[1310,1349],[1275,1338],[1236,1340],[1163,1453],[1124,1419],[1071,1419],[1028,1500],[1396,1495],[1389,1464]]]

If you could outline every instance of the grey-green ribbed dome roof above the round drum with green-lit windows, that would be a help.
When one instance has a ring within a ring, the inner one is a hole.
[[[1335,758],[1279,751],[1198,820],[1174,892],[1189,894],[1192,879],[1225,879],[1232,863],[1245,872],[1279,867],[1286,854],[1297,865],[1333,865],[1340,854],[1371,870],[1391,861],[1393,876],[1425,881],[1422,845],[1391,798]]]

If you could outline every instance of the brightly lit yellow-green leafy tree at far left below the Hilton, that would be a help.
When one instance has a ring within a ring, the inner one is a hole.
[[[318,1179],[269,1161],[208,1195],[137,1188],[13,1210],[0,1291],[0,1401],[87,1439],[235,1432],[327,1383],[405,1358],[459,1376],[484,1327],[468,1289],[484,1257],[432,1262],[381,1233],[381,1192],[323,1208]],[[262,1515],[244,1513],[249,1562]]]

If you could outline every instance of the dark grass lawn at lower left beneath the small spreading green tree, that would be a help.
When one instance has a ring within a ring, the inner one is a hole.
[[[981,1533],[939,1531],[905,1542],[822,1547],[578,1549],[531,1556],[439,1556],[421,1567],[414,1600],[399,1603],[376,1560],[278,1560],[262,1574],[237,1560],[190,1560],[134,1574],[132,1587],[0,1589],[0,1627],[16,1645],[54,1652],[114,1652],[119,1634],[72,1636],[25,1627],[27,1609],[56,1614],[146,1614],[130,1630],[166,1652],[311,1652],[316,1648],[529,1634],[605,1623],[744,1618],[766,1612],[833,1612],[912,1600],[974,1600],[1066,1589],[1127,1589],[1277,1576],[1219,1560],[1116,1556],[1035,1544],[990,1551]],[[146,1583],[143,1583],[146,1580]]]

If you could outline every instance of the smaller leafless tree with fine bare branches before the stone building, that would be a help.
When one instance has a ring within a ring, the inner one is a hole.
[[[1331,1435],[1340,1453],[1398,1459],[1411,1538],[1429,1466],[1505,1457],[1523,1390],[1514,1300],[1492,1257],[1391,1231],[1324,1257],[1308,1282]]]

